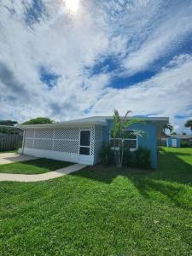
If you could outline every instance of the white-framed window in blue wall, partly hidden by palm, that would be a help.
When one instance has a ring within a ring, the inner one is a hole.
[[[111,148],[113,150],[119,149],[119,145],[122,144],[122,139],[117,138],[116,140],[113,138],[113,132],[110,132],[109,141],[111,144]],[[137,149],[137,135],[133,134],[133,131],[125,131],[125,139],[124,139],[124,147],[130,148],[131,151]]]

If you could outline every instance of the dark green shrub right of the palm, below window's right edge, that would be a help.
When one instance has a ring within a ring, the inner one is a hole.
[[[138,168],[150,169],[151,161],[150,161],[151,151],[148,148],[137,148],[135,151],[136,155],[136,165]]]

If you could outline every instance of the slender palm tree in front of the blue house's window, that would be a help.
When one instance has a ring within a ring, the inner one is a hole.
[[[143,119],[128,119],[128,114],[131,113],[131,111],[127,111],[125,113],[124,118],[120,118],[118,110],[114,110],[113,113],[113,131],[112,136],[114,138],[114,155],[115,155],[115,161],[116,165],[121,168],[124,158],[124,142],[125,138],[127,138],[127,129],[134,124],[144,122]],[[131,130],[130,137],[131,136],[143,136],[143,131],[138,130]]]

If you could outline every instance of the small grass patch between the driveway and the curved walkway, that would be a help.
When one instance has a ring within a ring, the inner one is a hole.
[[[72,163],[42,158],[1,165],[0,173],[40,174],[55,171],[70,165],[72,165]]]

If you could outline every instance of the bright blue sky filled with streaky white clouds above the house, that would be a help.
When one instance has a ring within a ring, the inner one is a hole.
[[[189,132],[192,1],[0,0],[0,119],[114,109]]]

